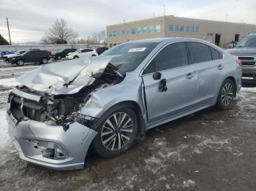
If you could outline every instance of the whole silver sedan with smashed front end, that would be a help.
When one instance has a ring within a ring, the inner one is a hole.
[[[168,38],[41,66],[9,95],[10,137],[23,160],[83,168],[89,147],[115,157],[149,128],[208,106],[228,109],[241,88],[239,63],[203,40]]]

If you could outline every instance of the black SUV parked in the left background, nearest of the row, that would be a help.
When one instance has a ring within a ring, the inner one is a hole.
[[[50,55],[47,50],[32,50],[12,58],[12,63],[23,66],[24,63],[48,63],[49,60]]]

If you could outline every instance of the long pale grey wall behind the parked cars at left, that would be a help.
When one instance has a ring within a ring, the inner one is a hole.
[[[0,52],[6,50],[30,50],[30,49],[40,49],[40,50],[49,50],[52,53],[59,52],[60,50],[66,48],[86,48],[88,47],[87,44],[38,44],[38,45],[1,45]]]

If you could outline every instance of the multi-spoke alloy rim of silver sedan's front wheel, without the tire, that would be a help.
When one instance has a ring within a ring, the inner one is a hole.
[[[133,130],[132,118],[128,114],[114,113],[108,117],[102,127],[100,135],[102,144],[109,150],[121,149],[131,139]]]

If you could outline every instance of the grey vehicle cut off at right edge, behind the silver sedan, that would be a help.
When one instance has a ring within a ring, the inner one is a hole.
[[[242,61],[243,82],[256,83],[256,34],[245,36],[227,52]]]

